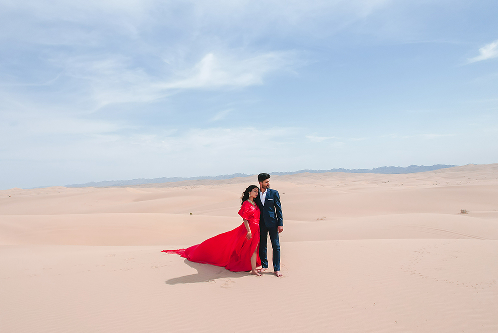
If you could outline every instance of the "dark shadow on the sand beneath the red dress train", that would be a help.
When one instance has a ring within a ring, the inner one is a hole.
[[[193,263],[187,259],[184,260],[184,263],[192,268],[195,268],[197,270],[197,274],[190,274],[179,278],[169,279],[166,281],[166,284],[177,285],[179,283],[209,282],[222,278],[241,278],[249,274],[248,272],[230,272],[224,267]]]

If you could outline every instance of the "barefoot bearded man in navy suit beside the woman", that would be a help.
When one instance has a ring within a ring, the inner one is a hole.
[[[268,258],[266,257],[266,243],[268,234],[273,249],[273,271],[279,278],[280,273],[280,243],[278,234],[284,231],[284,220],[282,219],[282,206],[280,205],[280,195],[278,191],[270,189],[270,175],[260,173],[258,175],[259,195],[256,197],[256,203],[261,210],[259,219],[259,230],[261,239],[259,241],[259,258],[261,259],[262,269],[260,273],[268,270]]]

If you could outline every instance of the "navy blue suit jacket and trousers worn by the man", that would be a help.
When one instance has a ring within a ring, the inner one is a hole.
[[[280,271],[280,242],[278,240],[278,226],[284,225],[282,218],[282,206],[278,191],[266,189],[265,202],[261,202],[259,195],[256,203],[261,211],[259,218],[259,230],[261,239],[259,241],[259,258],[261,266],[268,268],[268,258],[266,257],[267,236],[270,234],[270,241],[273,249],[273,270]]]

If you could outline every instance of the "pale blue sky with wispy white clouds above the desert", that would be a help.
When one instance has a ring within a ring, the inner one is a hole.
[[[0,0],[0,190],[498,162],[496,0]]]

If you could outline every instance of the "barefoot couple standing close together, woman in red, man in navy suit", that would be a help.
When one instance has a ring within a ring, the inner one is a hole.
[[[273,249],[273,270],[280,273],[280,243],[278,234],[284,231],[282,206],[278,191],[270,189],[270,175],[258,175],[259,189],[250,185],[242,195],[239,215],[243,223],[234,230],[214,236],[188,249],[164,250],[189,261],[225,267],[232,272],[247,272],[261,276],[268,270],[267,238]],[[260,269],[256,269],[261,266]]]

